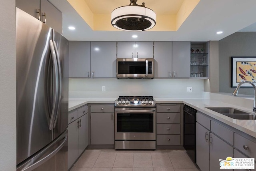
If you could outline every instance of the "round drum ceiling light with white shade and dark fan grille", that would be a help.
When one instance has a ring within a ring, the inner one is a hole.
[[[142,5],[136,4],[137,0],[130,0],[128,6],[116,8],[111,13],[111,24],[124,31],[144,31],[156,25],[156,13]]]

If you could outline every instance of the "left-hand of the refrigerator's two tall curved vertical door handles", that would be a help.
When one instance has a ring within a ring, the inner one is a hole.
[[[53,70],[54,70],[54,75],[55,75],[55,91],[54,91],[54,95],[53,95],[53,104],[52,104],[52,114],[51,114],[51,117],[50,117],[50,124],[49,124],[49,129],[52,130],[52,127],[53,127],[53,123],[54,123],[54,113],[56,113],[57,111],[57,108],[58,106],[56,106],[57,102],[58,102],[58,88],[59,88],[59,85],[58,85],[58,64],[57,64],[57,58],[56,58],[56,53],[55,53],[55,50],[54,50],[54,45],[53,45],[53,42],[52,40],[50,40],[50,49],[51,49],[51,53],[52,53],[52,60],[53,60]]]

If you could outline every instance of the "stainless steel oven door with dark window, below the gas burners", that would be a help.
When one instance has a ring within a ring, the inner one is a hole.
[[[115,140],[156,140],[156,108],[116,108]]]

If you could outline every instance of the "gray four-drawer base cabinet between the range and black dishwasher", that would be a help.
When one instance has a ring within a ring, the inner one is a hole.
[[[156,145],[180,144],[180,104],[157,104]]]

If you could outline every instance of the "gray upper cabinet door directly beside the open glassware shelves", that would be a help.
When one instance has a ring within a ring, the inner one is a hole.
[[[190,42],[172,42],[174,78],[190,78]]]

